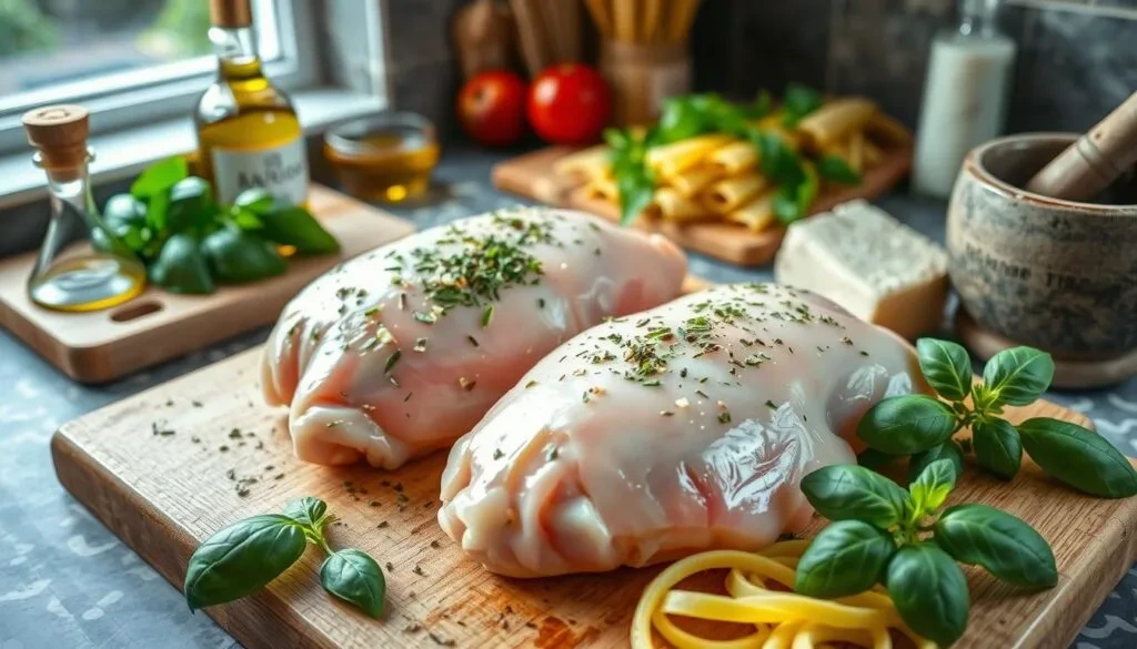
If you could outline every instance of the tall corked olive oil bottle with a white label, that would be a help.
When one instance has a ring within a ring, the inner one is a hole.
[[[250,0],[209,0],[209,40],[217,81],[198,101],[198,174],[231,203],[260,186],[302,205],[308,194],[304,133],[292,102],[265,77],[257,56]]]

